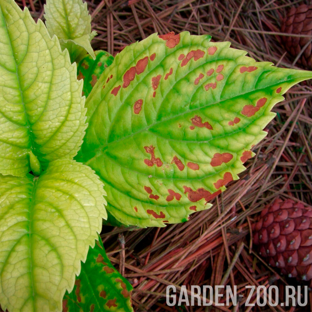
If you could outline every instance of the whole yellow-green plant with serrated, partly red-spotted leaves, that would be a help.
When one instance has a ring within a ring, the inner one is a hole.
[[[164,227],[211,207],[272,107],[312,73],[188,32],[114,59],[92,50],[81,0],[45,11],[46,25],[0,0],[0,304],[131,311],[131,285],[98,236],[107,212]]]

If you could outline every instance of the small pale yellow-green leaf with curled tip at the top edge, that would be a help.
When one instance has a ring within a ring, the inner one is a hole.
[[[96,32],[91,32],[91,16],[86,3],[81,0],[47,0],[44,10],[50,35],[59,38],[62,49],[67,48],[72,62],[80,61],[86,52],[95,59],[90,42]]]

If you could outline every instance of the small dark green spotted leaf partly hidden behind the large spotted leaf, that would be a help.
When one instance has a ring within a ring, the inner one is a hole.
[[[90,55],[77,66],[77,79],[83,79],[82,95],[87,97],[102,72],[114,61],[114,56],[103,50],[95,51],[95,60]],[[107,78],[108,80],[110,77]]]

